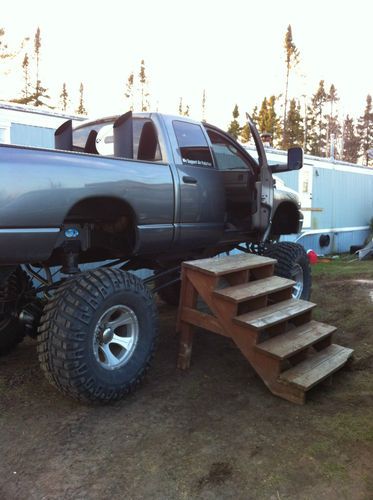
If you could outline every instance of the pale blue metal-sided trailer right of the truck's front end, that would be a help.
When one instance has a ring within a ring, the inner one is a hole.
[[[284,151],[266,152],[270,163],[287,161]],[[301,170],[276,176],[298,191],[304,214],[302,233],[287,240],[325,255],[364,244],[373,218],[372,168],[305,155]]]

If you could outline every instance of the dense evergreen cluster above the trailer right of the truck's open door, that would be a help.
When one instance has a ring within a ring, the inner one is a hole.
[[[340,98],[336,86],[332,83],[326,87],[324,80],[319,82],[309,102],[306,96],[289,99],[291,72],[300,57],[290,25],[285,34],[284,49],[286,74],[283,95],[264,97],[261,105],[255,106],[251,112],[259,132],[270,135],[273,147],[286,150],[292,146],[302,146],[311,155],[333,156],[351,163],[362,161],[365,165],[373,165],[369,155],[369,150],[373,148],[371,95],[367,95],[365,108],[357,120],[349,114],[341,119],[337,111]],[[240,124],[239,116],[236,104],[228,132],[246,143],[251,139],[250,128],[247,123]]]

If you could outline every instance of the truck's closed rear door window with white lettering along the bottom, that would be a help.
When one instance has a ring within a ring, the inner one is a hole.
[[[173,127],[185,165],[195,167],[214,166],[209,145],[199,125],[175,120]]]

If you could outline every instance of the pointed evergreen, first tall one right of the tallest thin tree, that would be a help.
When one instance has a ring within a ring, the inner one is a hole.
[[[316,156],[326,155],[328,123],[324,115],[324,106],[327,101],[328,95],[325,92],[324,80],[321,80],[307,111],[306,152]]]

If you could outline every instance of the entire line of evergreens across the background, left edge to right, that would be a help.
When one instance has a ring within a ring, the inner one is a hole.
[[[75,112],[87,115],[83,82],[79,86],[79,98],[75,105],[70,99],[70,90],[62,82],[58,102],[51,99],[47,87],[41,81],[40,61],[42,55],[42,37],[38,27],[32,40],[24,38],[17,50],[11,50],[6,43],[5,30],[0,28],[0,62],[20,56],[22,87],[11,102],[44,106],[63,112]],[[281,149],[302,146],[306,153],[328,157],[333,154],[337,159],[356,163],[373,164],[369,150],[373,148],[373,105],[370,95],[366,98],[361,116],[355,120],[349,114],[343,119],[338,115],[340,100],[334,83],[326,86],[319,82],[318,88],[310,99],[305,95],[289,97],[289,83],[300,61],[300,52],[296,47],[292,28],[289,25],[284,37],[285,87],[280,95],[264,97],[259,106],[251,111],[251,117],[261,133],[270,134],[272,145]],[[132,71],[124,84],[124,102],[130,110],[149,111],[149,78],[145,62],[140,61],[138,72]],[[206,120],[206,91],[201,96],[202,120]],[[156,111],[157,105],[153,109]],[[176,107],[176,106],[175,106]],[[189,116],[191,106],[179,98],[176,108],[179,115]],[[250,141],[250,129],[247,123],[240,122],[240,112],[236,104],[232,112],[232,121],[228,132],[242,142]]]

